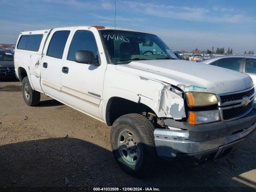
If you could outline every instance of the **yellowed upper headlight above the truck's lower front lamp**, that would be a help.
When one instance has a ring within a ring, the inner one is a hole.
[[[186,92],[189,107],[202,107],[218,104],[216,94],[202,92]]]

